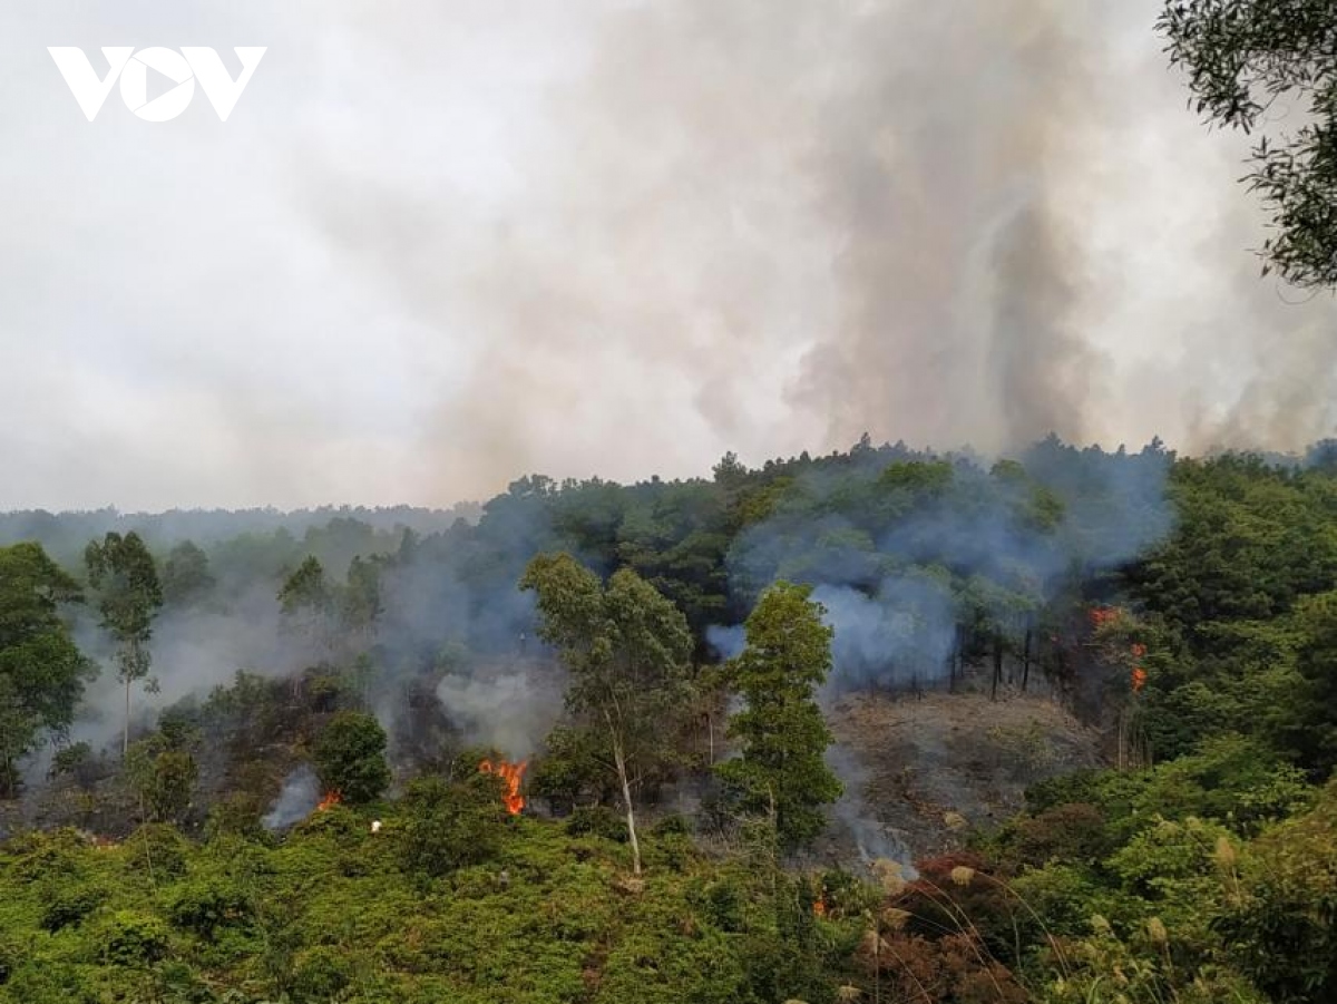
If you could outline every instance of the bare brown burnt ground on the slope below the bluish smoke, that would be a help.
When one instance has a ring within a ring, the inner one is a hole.
[[[1021,809],[1028,785],[1100,762],[1099,734],[1048,697],[846,695],[828,722],[846,781],[828,860],[957,849]]]

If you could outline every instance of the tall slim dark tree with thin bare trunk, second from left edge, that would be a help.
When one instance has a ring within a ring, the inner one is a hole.
[[[130,687],[148,676],[148,642],[154,616],[163,604],[154,557],[135,532],[107,533],[84,549],[88,582],[98,591],[102,626],[116,640],[116,679],[126,686],[126,722],[122,753],[130,751]]]

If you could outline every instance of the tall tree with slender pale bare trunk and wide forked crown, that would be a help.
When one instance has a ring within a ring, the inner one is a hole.
[[[571,672],[567,709],[596,739],[627,817],[632,872],[640,874],[635,801],[644,777],[673,758],[691,656],[687,620],[630,568],[607,586],[571,555],[539,555],[520,588],[539,602],[540,636]]]

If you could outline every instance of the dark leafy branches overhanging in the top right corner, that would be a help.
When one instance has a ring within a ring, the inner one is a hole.
[[[1334,24],[1332,0],[1169,0],[1159,20],[1199,114],[1245,132],[1267,127],[1245,180],[1271,215],[1263,274],[1277,269],[1297,286],[1337,285]],[[1278,102],[1304,114],[1269,115]]]

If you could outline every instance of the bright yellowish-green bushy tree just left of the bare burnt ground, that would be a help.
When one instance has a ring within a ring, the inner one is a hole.
[[[830,671],[834,632],[808,595],[778,582],[747,618],[747,647],[727,667],[747,705],[729,721],[741,755],[715,769],[746,811],[773,818],[785,848],[821,833],[822,806],[841,794],[822,759],[832,735],[814,697]]]

